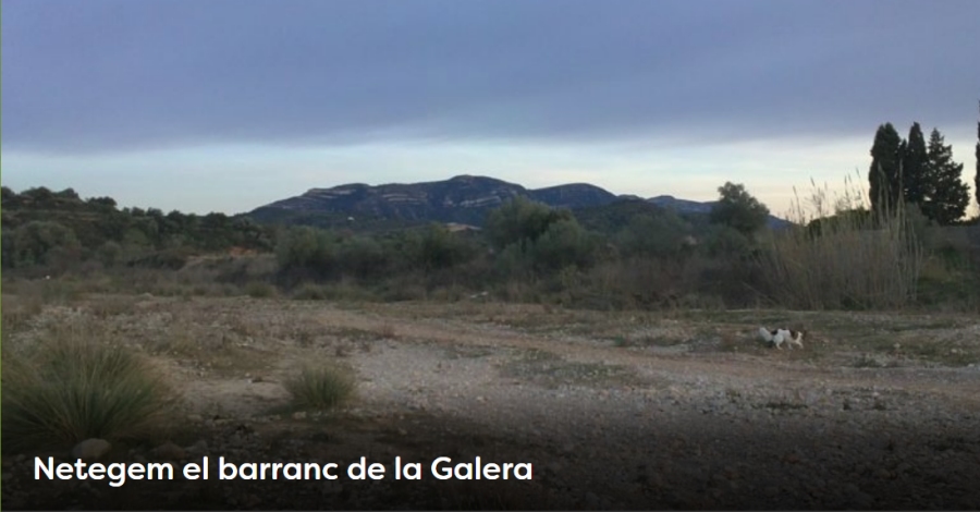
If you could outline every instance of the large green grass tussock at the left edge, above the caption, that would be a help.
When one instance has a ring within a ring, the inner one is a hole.
[[[4,350],[3,359],[7,448],[138,438],[172,410],[170,387],[121,346],[61,331],[27,353]]]

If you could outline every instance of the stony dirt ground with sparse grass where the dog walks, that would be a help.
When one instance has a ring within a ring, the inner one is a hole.
[[[13,348],[86,326],[181,391],[167,439],[107,461],[154,461],[172,440],[212,475],[220,456],[364,456],[387,477],[112,488],[35,480],[39,453],[4,452],[4,510],[980,508],[976,316],[149,295],[19,307],[4,296]],[[761,326],[807,329],[804,349],[767,346]],[[282,382],[318,362],[354,369],[355,399],[290,410]],[[421,479],[394,479],[396,456]],[[440,456],[528,463],[531,479],[440,480]]]

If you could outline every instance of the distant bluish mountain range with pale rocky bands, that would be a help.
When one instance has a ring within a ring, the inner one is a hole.
[[[669,195],[640,198],[616,195],[588,183],[526,188],[515,183],[478,175],[457,175],[444,181],[368,185],[351,183],[277,200],[246,214],[260,222],[310,223],[323,227],[370,223],[458,223],[480,227],[489,210],[524,196],[551,207],[596,208],[624,200],[642,200],[679,214],[707,215],[714,202],[678,199]],[[770,225],[785,220],[770,216]]]

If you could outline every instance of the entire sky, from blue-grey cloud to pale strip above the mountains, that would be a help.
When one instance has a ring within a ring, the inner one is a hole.
[[[938,127],[972,184],[976,0],[3,0],[2,184],[229,215],[346,183],[773,214]],[[971,205],[972,211],[977,210]]]

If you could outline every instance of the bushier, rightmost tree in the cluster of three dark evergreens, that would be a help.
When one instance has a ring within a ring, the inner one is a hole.
[[[953,161],[953,146],[933,129],[926,155],[926,175],[930,182],[931,197],[922,204],[922,214],[940,224],[951,224],[966,212],[970,191],[960,180],[963,163]]]

